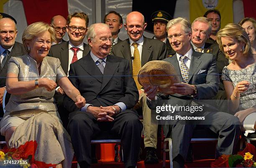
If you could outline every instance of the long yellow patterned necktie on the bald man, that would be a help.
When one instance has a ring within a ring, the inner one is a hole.
[[[141,58],[140,53],[138,51],[138,44],[133,43],[134,46],[134,53],[133,53],[133,79],[136,83],[136,86],[139,89],[142,88],[141,84],[138,83],[138,72],[141,70]]]

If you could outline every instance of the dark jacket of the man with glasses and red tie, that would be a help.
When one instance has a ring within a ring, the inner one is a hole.
[[[90,50],[90,46],[84,43],[83,57],[86,56]],[[48,55],[51,57],[59,58],[61,67],[67,75],[69,67],[69,42],[65,41],[52,45]]]

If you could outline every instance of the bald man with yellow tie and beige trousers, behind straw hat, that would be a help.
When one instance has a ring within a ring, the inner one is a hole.
[[[135,110],[142,107],[144,126],[144,145],[146,147],[145,163],[158,163],[156,156],[157,124],[151,122],[151,110],[146,105],[146,96],[138,83],[138,71],[151,60],[166,58],[166,46],[160,40],[149,39],[143,36],[147,26],[144,16],[139,12],[127,15],[124,24],[129,38],[113,46],[111,53],[115,56],[129,60],[131,73],[139,91],[139,102]]]

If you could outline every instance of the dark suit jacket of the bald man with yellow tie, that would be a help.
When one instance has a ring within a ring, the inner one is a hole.
[[[141,53],[141,67],[148,61],[152,60],[163,60],[166,58],[166,47],[160,40],[154,40],[144,37],[142,53]],[[121,58],[125,58],[130,62],[130,68],[132,72],[132,56],[130,41],[126,39],[113,46],[111,55],[115,55]]]

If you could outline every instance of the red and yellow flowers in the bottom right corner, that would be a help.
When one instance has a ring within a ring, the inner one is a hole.
[[[211,167],[256,167],[255,146],[248,143],[246,148],[237,155],[221,155]],[[254,158],[253,158],[254,157]]]

